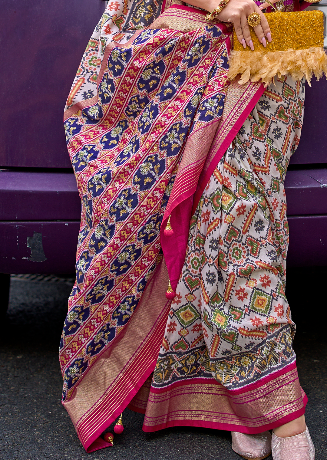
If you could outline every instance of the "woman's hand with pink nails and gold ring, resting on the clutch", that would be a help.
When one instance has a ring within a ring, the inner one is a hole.
[[[276,0],[275,0],[276,1]],[[217,2],[218,6],[219,2]],[[265,5],[265,3],[263,4]],[[260,23],[253,27],[255,34],[260,43],[267,46],[267,40],[271,41],[270,28],[264,13],[258,8],[253,0],[229,0],[227,6],[218,14],[218,19],[224,23],[232,23],[236,32],[237,39],[246,48],[250,46],[254,50],[253,42],[251,40],[250,28],[247,23],[247,18],[251,13],[258,13],[261,17]]]

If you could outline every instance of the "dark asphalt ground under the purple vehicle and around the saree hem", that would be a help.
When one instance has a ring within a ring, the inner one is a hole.
[[[287,273],[298,326],[294,349],[309,398],[305,415],[316,460],[327,459],[326,278],[327,267]],[[0,460],[240,460],[227,431],[182,427],[144,433],[143,415],[128,409],[114,446],[86,454],[60,401],[57,349],[71,287],[67,276],[11,277],[1,328]]]

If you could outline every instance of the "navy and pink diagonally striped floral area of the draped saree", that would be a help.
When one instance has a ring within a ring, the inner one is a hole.
[[[65,121],[82,212],[60,351],[64,398],[137,308],[185,142],[223,113],[223,30],[147,29],[112,42],[97,97]],[[192,308],[180,312],[185,324]]]

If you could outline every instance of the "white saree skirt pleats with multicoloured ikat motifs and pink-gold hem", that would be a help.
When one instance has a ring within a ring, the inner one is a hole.
[[[283,187],[303,102],[303,81],[276,80],[207,182],[191,218],[144,431],[190,425],[254,434],[304,413],[284,291]]]

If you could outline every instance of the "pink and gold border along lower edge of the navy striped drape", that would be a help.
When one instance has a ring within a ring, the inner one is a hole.
[[[162,259],[126,328],[63,403],[87,452],[108,447],[99,435],[126,408],[155,368],[171,305],[171,301],[163,301],[167,282]]]

